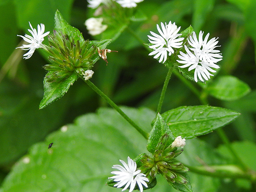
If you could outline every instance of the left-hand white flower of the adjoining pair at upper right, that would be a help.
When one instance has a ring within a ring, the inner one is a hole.
[[[170,21],[169,24],[164,25],[164,23],[161,22],[162,30],[160,29],[159,25],[156,25],[158,32],[160,35],[150,31],[150,33],[154,36],[148,35],[148,40],[150,43],[154,44],[149,46],[149,48],[154,49],[150,54],[148,55],[154,55],[154,59],[158,58],[160,56],[159,62],[163,63],[167,59],[167,52],[169,52],[169,56],[174,53],[173,48],[181,48],[182,47],[182,40],[184,38],[178,38],[181,34],[178,34],[180,27],[177,28],[175,22],[172,24]]]

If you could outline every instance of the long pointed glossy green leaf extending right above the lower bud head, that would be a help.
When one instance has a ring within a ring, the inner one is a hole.
[[[182,106],[162,114],[175,136],[194,138],[220,128],[237,118],[238,112],[212,106]]]

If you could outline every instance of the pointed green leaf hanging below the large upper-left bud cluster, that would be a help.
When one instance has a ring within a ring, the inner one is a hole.
[[[50,72],[46,74],[48,76]],[[47,78],[44,78],[44,97],[40,102],[39,109],[45,108],[52,102],[61,98],[66,92],[68,92],[69,87],[78,79],[76,73],[68,76],[68,78],[56,81],[48,82]]]

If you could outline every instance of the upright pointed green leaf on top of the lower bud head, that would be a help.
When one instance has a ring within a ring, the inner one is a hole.
[[[160,140],[160,138],[164,135],[168,134],[169,138],[166,142],[166,146],[169,146],[174,141],[174,136],[169,129],[168,125],[164,121],[164,118],[158,113],[156,116],[155,123],[153,125],[152,130],[150,131],[149,137],[148,137],[148,145],[147,150],[154,154],[156,150],[156,146]]]

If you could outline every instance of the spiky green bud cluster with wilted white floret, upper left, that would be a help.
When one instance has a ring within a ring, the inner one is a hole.
[[[46,51],[50,54],[51,64],[44,66],[49,72],[46,75],[48,82],[63,80],[73,73],[84,75],[86,80],[92,77],[90,69],[96,57],[96,46],[92,46],[89,40],[75,40],[73,36],[56,30],[48,36],[48,40],[50,46],[46,46]]]

